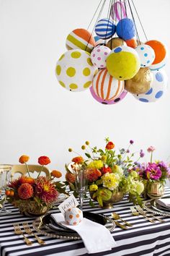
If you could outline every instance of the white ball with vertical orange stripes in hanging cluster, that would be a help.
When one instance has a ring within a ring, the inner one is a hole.
[[[104,101],[113,101],[124,90],[124,81],[116,80],[107,69],[100,70],[93,80],[94,93]]]

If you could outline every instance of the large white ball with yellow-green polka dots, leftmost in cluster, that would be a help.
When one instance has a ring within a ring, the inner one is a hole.
[[[91,63],[90,54],[81,49],[66,51],[55,68],[59,84],[73,92],[88,89],[97,71]]]

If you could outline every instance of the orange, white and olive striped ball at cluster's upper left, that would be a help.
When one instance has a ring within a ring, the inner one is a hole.
[[[79,48],[91,53],[95,45],[93,36],[84,28],[73,30],[66,38],[66,48],[68,50]]]

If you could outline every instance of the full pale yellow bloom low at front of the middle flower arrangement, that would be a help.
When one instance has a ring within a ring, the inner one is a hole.
[[[120,176],[118,174],[109,174],[107,172],[102,176],[103,187],[107,187],[109,190],[114,190],[119,186]]]

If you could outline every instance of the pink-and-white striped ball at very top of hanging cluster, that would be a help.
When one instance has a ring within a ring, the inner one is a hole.
[[[111,16],[113,20],[118,20],[118,21],[127,17],[124,1],[123,2],[117,1],[115,4],[112,5]]]

